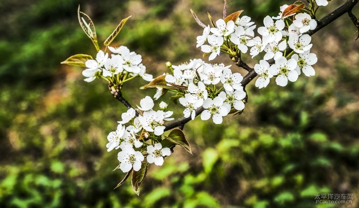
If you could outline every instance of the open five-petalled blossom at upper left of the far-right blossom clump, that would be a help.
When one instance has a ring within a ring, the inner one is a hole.
[[[270,16],[264,18],[264,26],[258,28],[258,33],[263,36],[263,45],[267,45],[272,41],[279,42],[282,39],[282,30],[285,27],[285,23],[282,19],[276,20],[274,23]]]

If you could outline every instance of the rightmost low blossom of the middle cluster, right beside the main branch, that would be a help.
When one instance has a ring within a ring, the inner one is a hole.
[[[242,100],[246,97],[246,92],[243,90],[243,87],[233,92],[222,91],[218,96],[224,100],[223,106],[227,108],[228,113],[231,111],[232,106],[238,111],[243,110],[245,107]]]

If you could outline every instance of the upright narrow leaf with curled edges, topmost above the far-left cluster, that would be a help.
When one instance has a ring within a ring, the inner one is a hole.
[[[77,9],[77,18],[78,18],[78,23],[80,24],[81,28],[84,30],[86,35],[91,39],[96,50],[99,51],[95,25],[93,24],[92,19],[87,14],[80,11],[79,5],[78,5],[78,9]]]

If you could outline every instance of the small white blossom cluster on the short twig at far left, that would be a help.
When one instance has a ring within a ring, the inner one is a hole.
[[[152,81],[153,76],[146,73],[146,67],[141,64],[142,57],[135,52],[130,52],[126,46],[118,48],[108,47],[112,52],[111,57],[108,53],[99,50],[96,59],[86,61],[85,69],[82,74],[86,77],[84,80],[91,82],[97,77],[104,77],[113,81],[116,76],[124,76],[127,79],[131,77],[141,76],[146,81]],[[122,82],[125,82],[123,80]]]

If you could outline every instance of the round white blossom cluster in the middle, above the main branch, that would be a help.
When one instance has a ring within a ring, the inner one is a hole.
[[[172,67],[173,75],[166,75],[165,80],[169,84],[188,87],[183,97],[179,98],[179,103],[185,107],[183,114],[186,118],[193,120],[196,110],[203,107],[205,110],[201,119],[212,117],[214,123],[220,124],[232,108],[237,111],[244,109],[246,93],[241,85],[243,77],[240,73],[232,73],[231,66],[193,59]]]

